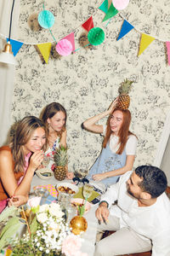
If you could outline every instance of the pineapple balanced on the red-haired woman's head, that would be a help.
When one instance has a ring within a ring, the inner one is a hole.
[[[129,107],[130,97],[128,96],[128,92],[131,90],[131,84],[133,84],[133,81],[125,79],[119,87],[117,108],[127,109]]]

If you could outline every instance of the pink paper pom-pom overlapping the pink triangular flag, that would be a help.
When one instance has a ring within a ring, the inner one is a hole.
[[[69,40],[62,39],[56,45],[55,49],[59,53],[59,55],[62,55],[62,56],[71,55],[72,44]]]

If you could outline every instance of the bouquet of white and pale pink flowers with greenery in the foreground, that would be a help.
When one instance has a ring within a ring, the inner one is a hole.
[[[88,256],[87,253],[81,252],[82,239],[71,234],[69,224],[65,221],[65,213],[61,211],[58,203],[31,208],[29,218],[26,217],[24,209],[19,212],[15,207],[10,208],[6,214],[4,212],[3,216],[0,216],[4,223],[0,234],[0,252],[5,246],[10,247],[12,255],[17,256]],[[14,217],[5,221],[7,215]],[[14,231],[19,229],[20,220],[27,225],[27,232],[21,238],[14,238]]]

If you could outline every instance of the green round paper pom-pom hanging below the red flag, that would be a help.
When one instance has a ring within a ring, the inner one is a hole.
[[[99,27],[93,27],[88,32],[88,41],[90,44],[99,45],[105,40],[105,32]]]

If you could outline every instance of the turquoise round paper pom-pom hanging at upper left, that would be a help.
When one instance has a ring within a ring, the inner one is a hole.
[[[43,10],[39,13],[37,20],[39,25],[43,28],[50,28],[54,26],[54,15],[48,10]]]

